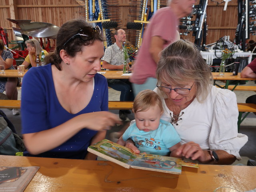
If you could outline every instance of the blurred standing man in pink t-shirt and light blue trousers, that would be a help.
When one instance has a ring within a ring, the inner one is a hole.
[[[168,6],[159,9],[150,19],[143,35],[142,46],[135,60],[130,78],[134,94],[156,88],[156,66],[160,52],[177,39],[178,19],[192,11],[196,0],[169,0]]]

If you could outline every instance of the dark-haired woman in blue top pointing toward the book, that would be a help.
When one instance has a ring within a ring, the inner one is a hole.
[[[96,159],[87,147],[120,123],[108,111],[108,85],[100,71],[100,30],[84,20],[62,25],[46,66],[31,68],[22,82],[25,156]]]

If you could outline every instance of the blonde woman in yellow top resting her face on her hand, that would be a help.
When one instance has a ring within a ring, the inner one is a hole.
[[[40,46],[40,43],[36,39],[26,40],[25,43],[26,43],[27,50],[28,50],[28,56],[26,56],[22,65],[25,65],[25,68],[28,68],[30,66],[30,64],[32,67],[36,67],[36,57],[39,56],[39,58],[41,60],[42,51],[44,52],[45,56],[48,55],[48,52],[46,50],[42,49],[42,47]]]

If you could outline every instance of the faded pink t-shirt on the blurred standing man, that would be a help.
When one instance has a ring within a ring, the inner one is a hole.
[[[178,18],[172,12],[171,7],[159,9],[150,19],[140,46],[138,56],[134,62],[133,75],[130,82],[135,84],[143,84],[147,78],[156,78],[156,63],[154,62],[150,52],[150,41],[153,36],[160,36],[166,41],[165,48],[171,42],[176,40]]]

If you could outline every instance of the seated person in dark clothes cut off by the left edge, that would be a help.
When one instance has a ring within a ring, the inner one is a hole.
[[[13,54],[10,51],[4,50],[4,42],[0,40],[0,65],[4,65],[4,69],[15,69],[13,64]],[[18,78],[0,78],[0,92],[6,93],[10,100],[18,100],[17,90]],[[18,109],[12,109],[13,115],[20,114]]]

